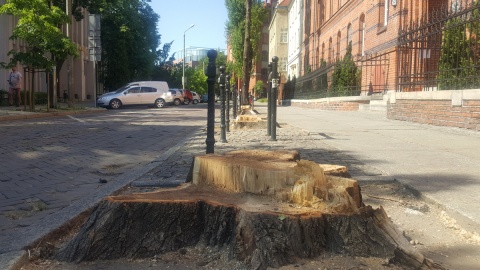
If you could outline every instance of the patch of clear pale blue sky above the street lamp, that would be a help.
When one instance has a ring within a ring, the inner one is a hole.
[[[227,48],[225,0],[152,0],[150,6],[160,15],[160,46],[174,40],[170,54],[183,50],[183,34],[192,24],[195,26],[185,34],[186,48]]]

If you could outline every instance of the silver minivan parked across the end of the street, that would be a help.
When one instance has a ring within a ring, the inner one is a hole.
[[[175,99],[164,81],[132,82],[97,98],[97,106],[110,109],[119,109],[126,105],[153,105],[163,108],[166,103],[175,103]]]

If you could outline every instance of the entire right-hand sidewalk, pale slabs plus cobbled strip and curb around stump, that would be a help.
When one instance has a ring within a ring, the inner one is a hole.
[[[255,109],[266,117],[265,104]],[[216,114],[219,122],[219,114]],[[277,140],[271,141],[265,129],[236,130],[227,133],[215,153],[238,149],[298,150],[302,159],[317,163],[345,165],[361,184],[397,180],[419,191],[428,201],[445,208],[462,226],[480,231],[480,134],[443,127],[388,120],[381,112],[331,112],[296,107],[278,107]],[[194,155],[206,152],[206,130],[199,129],[190,139],[173,146],[167,154],[122,175],[120,182],[137,188],[171,186],[187,178]],[[110,190],[114,192],[115,190]],[[59,222],[88,209],[108,193],[67,209]],[[44,224],[47,230],[58,225]],[[37,240],[27,239],[28,243]],[[15,251],[0,255],[0,269],[16,269],[27,253]]]

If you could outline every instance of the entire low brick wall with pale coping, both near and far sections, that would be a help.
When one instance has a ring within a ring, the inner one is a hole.
[[[371,101],[376,101],[372,108]],[[382,102],[383,100],[383,102]],[[377,102],[378,101],[378,102]],[[284,105],[333,111],[379,110],[386,106],[387,118],[480,131],[480,90],[428,92],[388,91],[378,96],[288,100]],[[378,103],[378,104],[377,104]],[[370,107],[370,109],[368,109]]]

